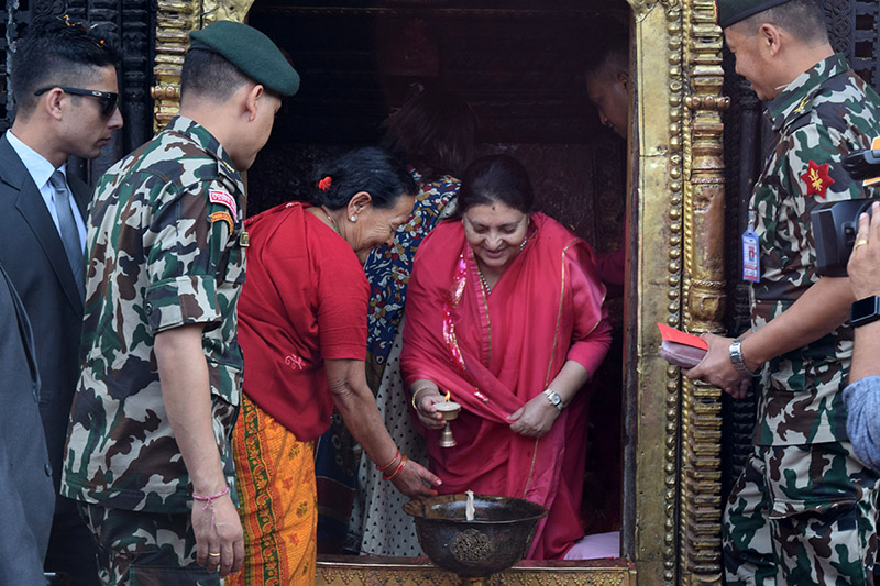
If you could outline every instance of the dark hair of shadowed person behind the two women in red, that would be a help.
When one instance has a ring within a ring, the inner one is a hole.
[[[413,165],[425,181],[441,175],[458,177],[471,161],[477,125],[476,114],[461,96],[426,88],[385,121],[382,146]]]

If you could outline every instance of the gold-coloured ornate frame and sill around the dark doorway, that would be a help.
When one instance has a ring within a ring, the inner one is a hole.
[[[588,0],[583,0],[584,2]],[[721,583],[721,391],[683,382],[657,322],[719,331],[725,303],[722,35],[714,0],[627,0],[631,9],[631,226],[620,560],[522,564],[504,584]],[[242,21],[252,0],[158,0],[154,125],[179,104],[189,31]],[[662,252],[662,254],[660,254]],[[458,584],[405,560],[319,562],[319,584]]]

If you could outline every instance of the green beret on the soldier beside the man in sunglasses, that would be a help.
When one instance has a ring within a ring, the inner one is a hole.
[[[234,21],[212,22],[189,33],[190,48],[207,48],[222,55],[241,71],[280,96],[299,89],[299,74],[280,49],[256,29]]]

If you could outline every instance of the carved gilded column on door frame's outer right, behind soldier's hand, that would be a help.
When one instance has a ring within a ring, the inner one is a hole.
[[[683,327],[723,332],[725,313],[724,130],[721,111],[722,32],[715,0],[691,0],[684,11],[684,274]],[[721,389],[684,379],[682,501],[679,563],[682,583],[719,583]]]

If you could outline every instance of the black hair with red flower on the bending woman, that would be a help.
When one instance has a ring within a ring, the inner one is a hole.
[[[326,190],[318,187],[319,183]],[[321,169],[314,186],[311,202],[331,210],[344,208],[360,191],[370,194],[373,206],[381,209],[393,208],[398,197],[414,196],[418,191],[416,180],[406,167],[377,146],[345,153]]]

